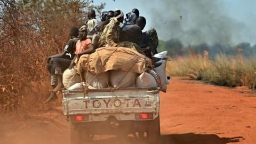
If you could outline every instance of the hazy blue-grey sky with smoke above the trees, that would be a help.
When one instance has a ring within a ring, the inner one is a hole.
[[[100,3],[106,3],[106,11],[139,9],[147,19],[144,30],[155,28],[159,39],[165,41],[179,38],[184,44],[256,44],[254,0],[94,0],[94,4]]]

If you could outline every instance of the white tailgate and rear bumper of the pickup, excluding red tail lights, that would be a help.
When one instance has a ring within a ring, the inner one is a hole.
[[[71,122],[71,115],[87,115],[88,121],[106,121],[114,116],[118,121],[139,121],[135,114],[159,115],[159,90],[145,88],[92,89],[63,91],[63,114]]]

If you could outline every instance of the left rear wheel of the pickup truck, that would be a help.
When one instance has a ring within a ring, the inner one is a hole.
[[[82,132],[73,123],[69,123],[70,144],[82,144]]]

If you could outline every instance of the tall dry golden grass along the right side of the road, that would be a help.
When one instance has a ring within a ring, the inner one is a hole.
[[[166,74],[170,76],[195,75],[196,79],[223,86],[249,86],[256,82],[256,59],[241,55],[223,54],[210,59],[204,55],[171,58],[167,62]]]

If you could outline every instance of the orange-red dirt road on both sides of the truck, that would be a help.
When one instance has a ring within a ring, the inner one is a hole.
[[[161,93],[161,144],[256,143],[256,96],[240,87],[229,89],[172,78]],[[68,123],[61,107],[28,114],[15,124],[0,121],[0,143],[68,143]],[[140,143],[133,137],[95,137],[94,144]]]

